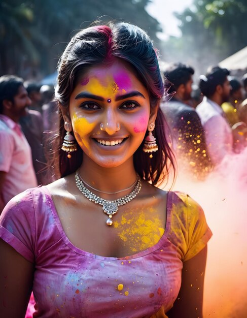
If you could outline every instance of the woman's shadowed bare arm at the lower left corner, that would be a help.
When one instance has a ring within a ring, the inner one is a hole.
[[[0,239],[0,317],[25,316],[33,270],[32,263]]]

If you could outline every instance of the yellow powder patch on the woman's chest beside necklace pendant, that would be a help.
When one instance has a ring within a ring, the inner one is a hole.
[[[132,252],[137,252],[158,243],[165,231],[158,217],[148,218],[144,212],[135,211],[126,214],[120,222],[114,222],[114,227],[119,230],[118,236],[125,246],[129,246]]]

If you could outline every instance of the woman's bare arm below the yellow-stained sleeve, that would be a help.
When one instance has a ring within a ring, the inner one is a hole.
[[[203,283],[207,247],[184,262],[178,298],[167,313],[169,318],[202,318]]]

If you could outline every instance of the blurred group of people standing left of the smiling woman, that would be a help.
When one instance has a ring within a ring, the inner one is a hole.
[[[58,125],[54,87],[0,77],[0,213],[25,189],[54,181],[48,164]]]

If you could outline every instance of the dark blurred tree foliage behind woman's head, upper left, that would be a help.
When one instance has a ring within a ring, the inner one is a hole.
[[[0,73],[54,72],[70,37],[94,20],[120,20],[145,29],[158,44],[161,27],[145,7],[151,0],[2,0]]]

